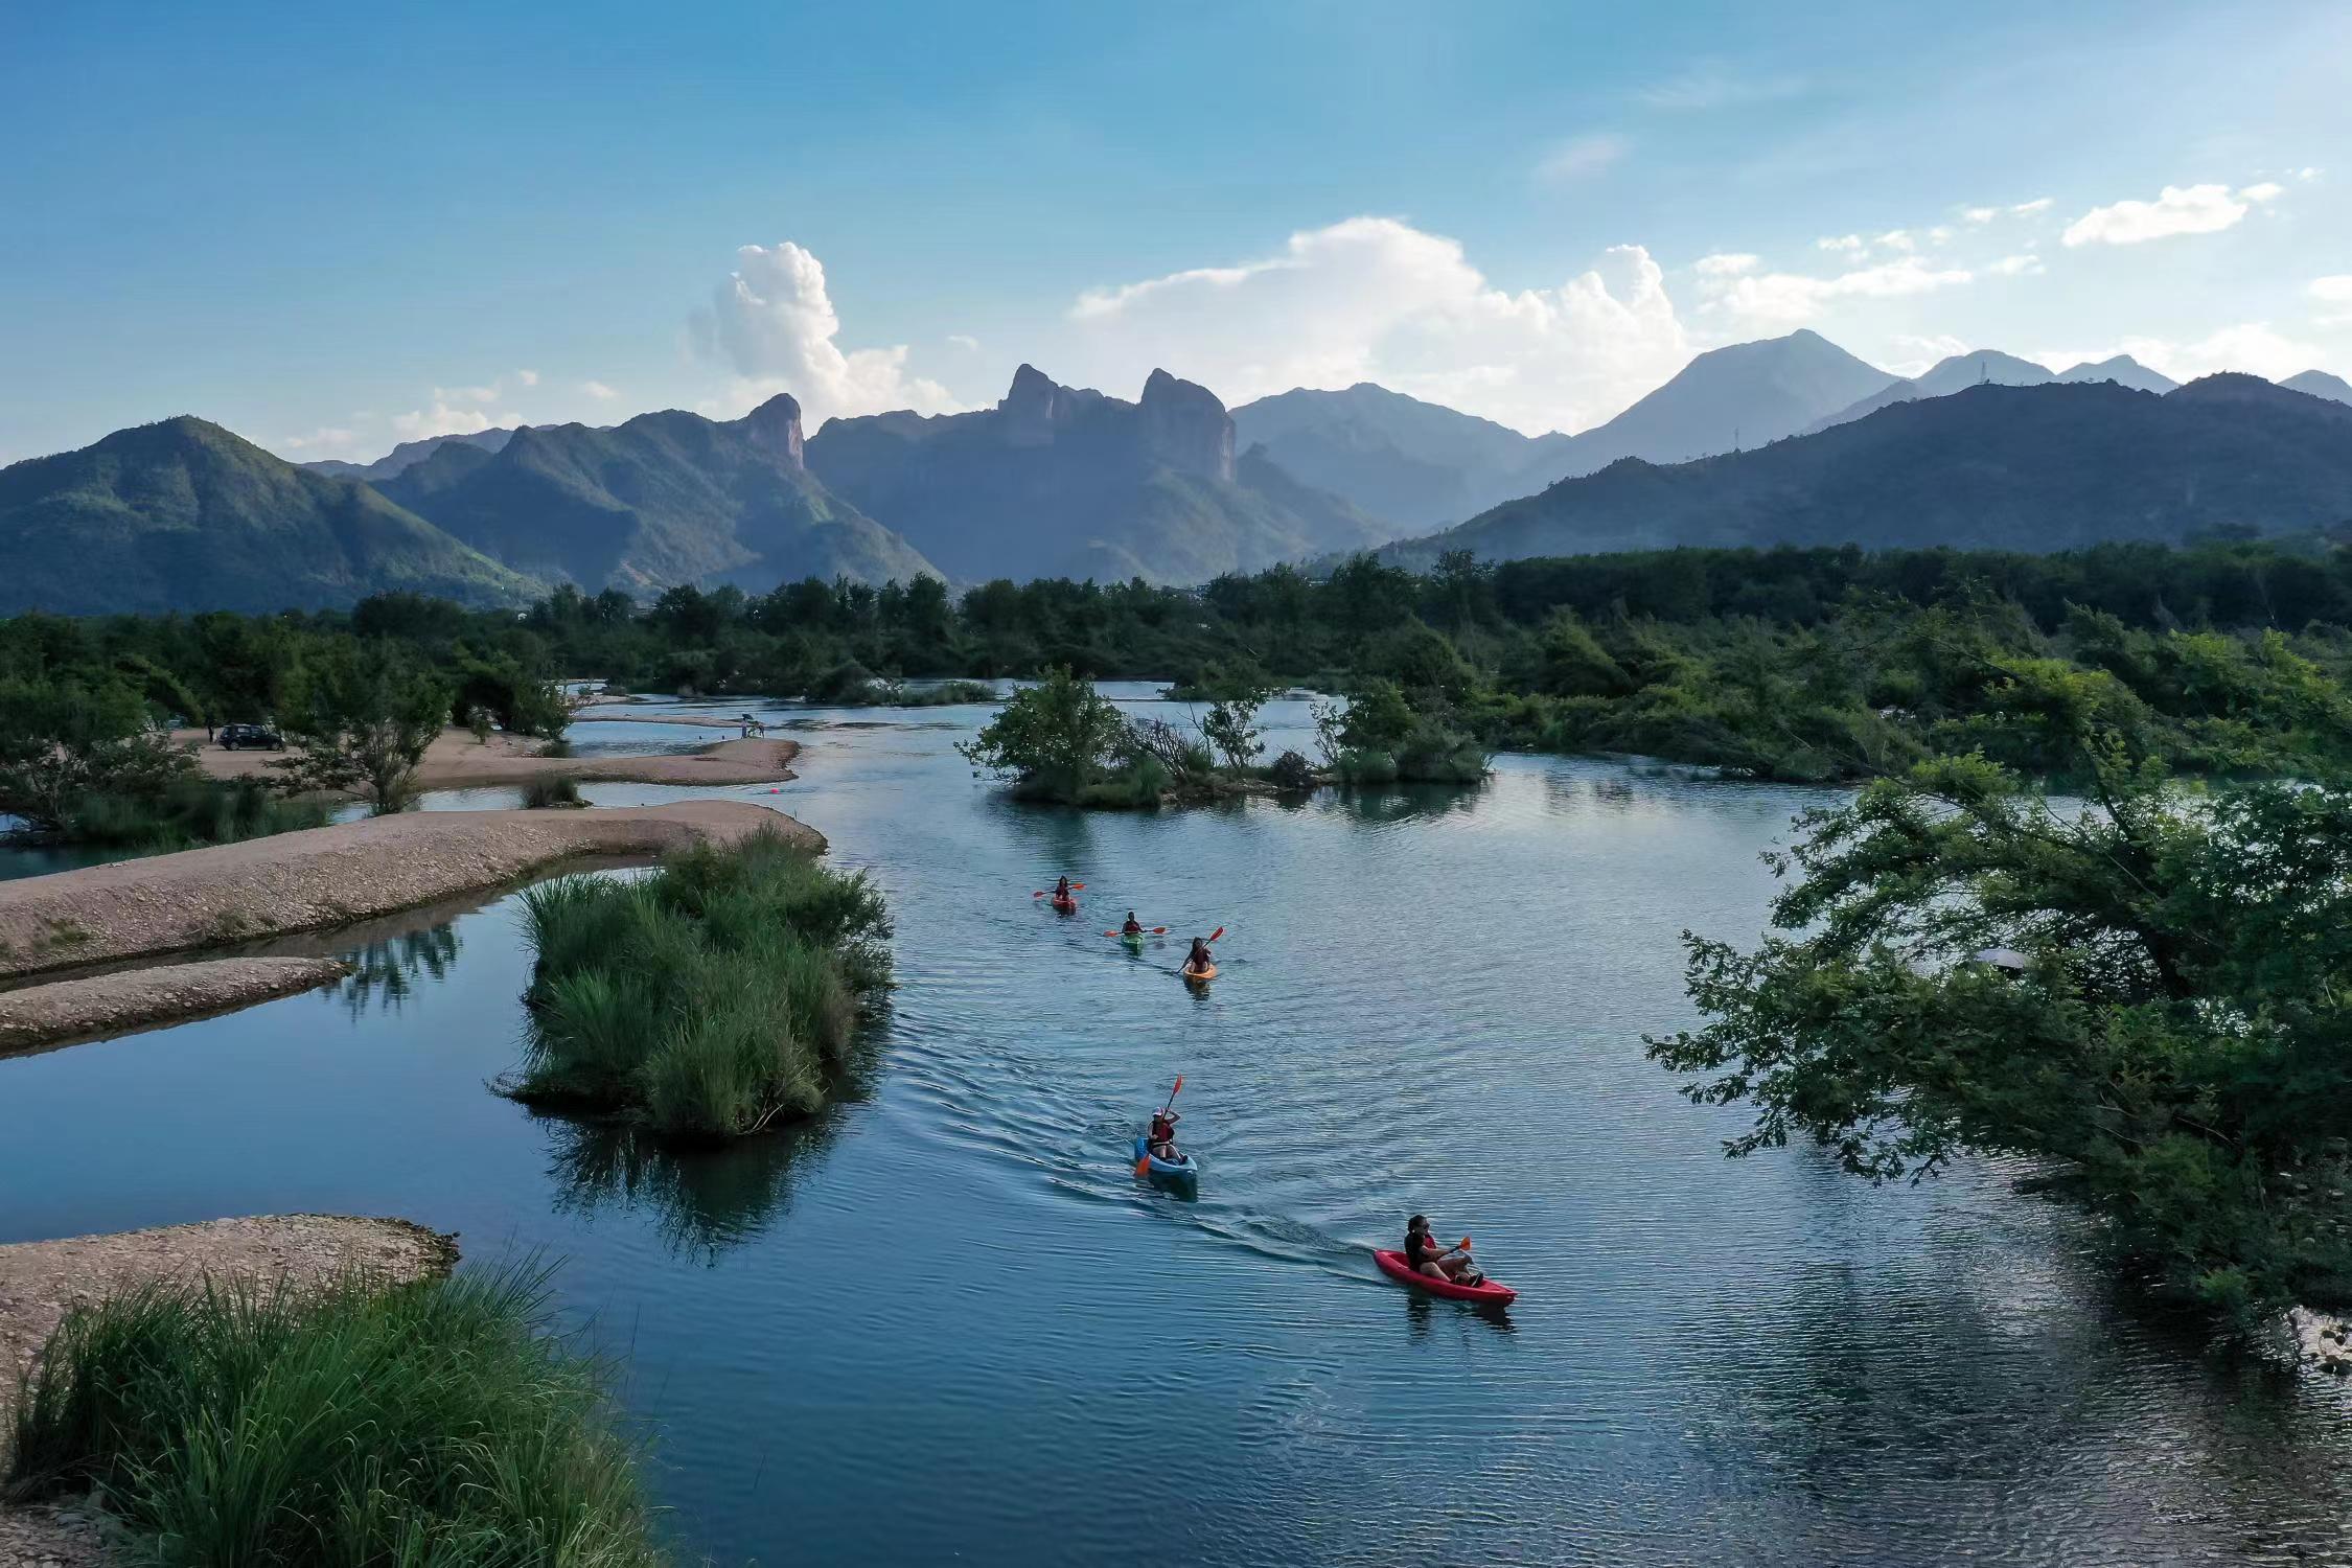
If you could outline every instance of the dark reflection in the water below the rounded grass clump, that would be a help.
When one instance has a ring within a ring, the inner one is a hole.
[[[560,1182],[555,1211],[647,1206],[673,1253],[713,1262],[793,1206],[795,1164],[840,1135],[842,1105],[866,1098],[873,1056],[861,1048],[823,1112],[715,1150],[663,1145],[621,1119],[539,1114],[548,1128],[548,1173]]]

